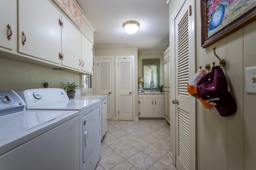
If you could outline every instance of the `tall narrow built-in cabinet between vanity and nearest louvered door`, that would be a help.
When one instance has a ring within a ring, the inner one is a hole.
[[[170,66],[170,49],[164,51],[164,118],[170,123],[170,84],[169,84],[169,66]]]

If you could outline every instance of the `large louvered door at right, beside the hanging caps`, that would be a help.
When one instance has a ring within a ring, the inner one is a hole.
[[[194,74],[195,55],[192,16],[189,2],[184,2],[175,18],[176,60],[176,167],[195,170],[195,100],[187,92],[187,83]]]

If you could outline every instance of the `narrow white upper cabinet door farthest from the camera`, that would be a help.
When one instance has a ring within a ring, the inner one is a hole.
[[[82,35],[82,71],[92,74],[92,43]]]

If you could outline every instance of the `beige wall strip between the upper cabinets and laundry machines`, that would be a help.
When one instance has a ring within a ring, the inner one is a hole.
[[[62,88],[61,82],[68,81],[80,84],[80,75],[0,57],[0,90],[20,92],[26,89],[44,88],[43,82],[48,82],[48,88]],[[76,95],[79,94],[80,90],[77,89]]]

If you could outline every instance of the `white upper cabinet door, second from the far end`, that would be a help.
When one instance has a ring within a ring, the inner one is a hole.
[[[81,70],[81,33],[62,16],[62,65]]]

